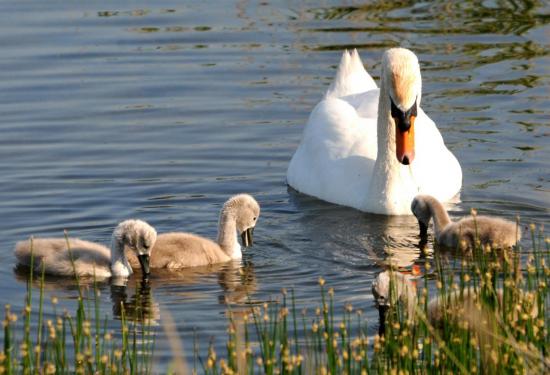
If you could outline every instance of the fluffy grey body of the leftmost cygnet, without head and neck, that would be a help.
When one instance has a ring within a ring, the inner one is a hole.
[[[33,268],[35,272],[49,275],[72,276],[74,270],[79,276],[109,277],[111,276],[111,251],[105,246],[70,238],[71,256],[64,238],[35,238],[32,241]],[[15,245],[15,257],[22,265],[31,265],[31,241],[20,241]]]

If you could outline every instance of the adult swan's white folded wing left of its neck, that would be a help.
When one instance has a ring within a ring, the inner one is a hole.
[[[326,99],[312,111],[290,161],[287,181],[328,202],[360,208],[376,157],[376,120],[346,101]]]

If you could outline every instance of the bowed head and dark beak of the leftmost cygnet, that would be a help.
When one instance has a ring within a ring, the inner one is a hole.
[[[157,231],[143,220],[125,220],[118,224],[113,237],[133,251],[144,275],[148,275],[151,250],[157,241]]]

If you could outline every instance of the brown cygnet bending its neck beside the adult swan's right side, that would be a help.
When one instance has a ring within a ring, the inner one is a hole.
[[[465,250],[474,246],[476,239],[492,248],[509,248],[521,239],[516,223],[489,216],[469,216],[456,223],[437,199],[418,195],[411,203],[411,211],[418,219],[420,235],[425,236],[430,219],[434,219],[434,237],[440,245]]]

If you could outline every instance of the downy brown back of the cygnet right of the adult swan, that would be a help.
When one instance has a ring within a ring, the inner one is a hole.
[[[457,241],[465,241],[471,247],[479,239],[483,245],[492,248],[509,248],[521,239],[521,231],[516,223],[497,217],[477,216],[465,217],[445,228],[440,236],[440,242],[445,246],[456,246]]]

